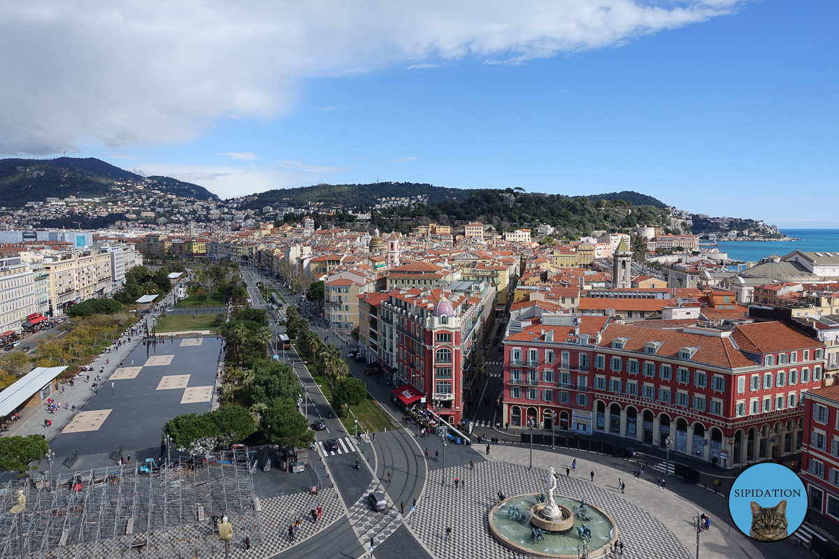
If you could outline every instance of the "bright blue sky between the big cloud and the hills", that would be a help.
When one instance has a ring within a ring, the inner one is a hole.
[[[620,8],[628,0],[605,3]],[[581,21],[581,32],[556,34],[524,18],[512,31],[463,35],[434,22],[409,25],[397,13],[377,23],[395,28],[395,39],[348,34],[335,49],[273,44],[279,66],[237,56],[248,51],[201,60],[174,44],[172,52],[199,70],[188,81],[173,77],[172,91],[167,53],[137,62],[148,37],[129,39],[124,55],[129,68],[138,65],[138,88],[151,80],[154,89],[129,106],[91,93],[112,119],[99,129],[62,128],[70,117],[60,114],[55,124],[41,123],[55,128],[51,136],[34,127],[49,136],[40,143],[35,132],[27,143],[0,129],[0,152],[6,146],[17,157],[44,157],[66,142],[68,155],[168,174],[222,196],[376,179],[561,194],[632,189],[711,215],[839,227],[819,201],[837,176],[837,4],[659,5],[663,16],[635,27],[618,19],[607,33],[591,31],[587,16],[573,12],[567,17]],[[680,8],[706,13],[683,24]],[[461,27],[477,18],[444,15]],[[493,17],[506,16],[497,10]],[[425,46],[400,44],[400,24]],[[556,44],[543,46],[550,41]],[[95,47],[80,54],[98,56]],[[516,57],[524,60],[509,64]],[[99,75],[112,78],[111,89],[133,79],[125,65],[113,70],[107,62]],[[201,72],[214,76],[207,85]],[[239,82],[248,86],[231,86],[221,101],[208,92]],[[96,107],[79,102],[81,115],[96,122]]]

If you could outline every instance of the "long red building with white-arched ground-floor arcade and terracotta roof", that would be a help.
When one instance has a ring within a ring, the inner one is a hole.
[[[591,335],[589,317],[555,329],[562,318],[505,339],[504,422],[555,411],[560,429],[661,448],[669,438],[676,453],[729,465],[800,448],[802,395],[823,377],[816,339],[779,322],[664,330],[614,318]]]

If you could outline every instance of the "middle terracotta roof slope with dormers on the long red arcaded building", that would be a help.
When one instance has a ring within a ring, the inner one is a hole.
[[[623,345],[627,351],[644,352],[647,342],[662,342],[656,355],[663,355],[678,359],[679,350],[684,347],[696,347],[699,350],[693,355],[696,363],[737,369],[738,367],[753,367],[755,362],[743,352],[734,347],[730,339],[703,336],[701,334],[685,334],[674,330],[646,329],[626,324],[609,324],[603,332],[598,347],[611,348],[615,338],[628,338]]]

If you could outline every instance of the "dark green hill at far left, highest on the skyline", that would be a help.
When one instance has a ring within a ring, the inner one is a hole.
[[[118,196],[138,186],[177,196],[218,199],[197,184],[142,177],[96,158],[0,159],[0,200],[16,208],[47,198]]]

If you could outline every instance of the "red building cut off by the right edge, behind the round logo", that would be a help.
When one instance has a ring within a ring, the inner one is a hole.
[[[801,447],[801,479],[810,509],[839,529],[839,386],[807,392],[804,402],[804,432],[810,436]]]

